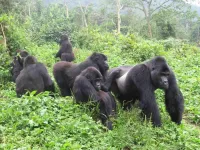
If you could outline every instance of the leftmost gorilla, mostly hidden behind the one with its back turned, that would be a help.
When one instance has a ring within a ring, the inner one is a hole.
[[[23,69],[24,58],[29,55],[28,52],[24,50],[18,50],[17,52],[19,55],[14,57],[10,70],[13,82],[16,81],[17,76]]]

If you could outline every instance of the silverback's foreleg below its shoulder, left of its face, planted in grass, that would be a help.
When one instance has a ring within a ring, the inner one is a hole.
[[[154,126],[161,126],[160,113],[154,94],[155,88],[151,83],[149,69],[144,64],[141,64],[135,66],[131,72],[137,72],[137,74],[132,73],[134,75],[132,80],[140,93],[139,101],[142,112],[147,118],[152,119]]]

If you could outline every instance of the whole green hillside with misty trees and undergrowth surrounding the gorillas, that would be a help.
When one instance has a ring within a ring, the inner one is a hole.
[[[181,0],[41,0],[0,1],[0,149],[199,150],[200,149],[200,16]],[[73,7],[70,7],[73,6]],[[148,13],[145,13],[148,12]],[[109,68],[134,66],[163,56],[184,97],[180,125],[165,108],[165,93],[156,90],[162,126],[142,119],[117,102],[108,130],[91,103],[62,97],[53,76],[61,35],[71,41],[74,63],[93,52],[108,58]],[[26,50],[43,63],[55,84],[53,96],[36,91],[18,98],[11,62]]]

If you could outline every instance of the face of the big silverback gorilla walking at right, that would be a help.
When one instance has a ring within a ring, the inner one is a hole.
[[[153,85],[156,88],[160,89],[168,89],[169,88],[169,78],[170,70],[167,65],[157,66],[152,68],[151,71],[151,79],[153,81]]]

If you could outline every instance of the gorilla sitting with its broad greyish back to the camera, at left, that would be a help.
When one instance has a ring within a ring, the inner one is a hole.
[[[26,91],[34,91],[36,94],[43,91],[54,92],[54,83],[51,80],[46,67],[37,62],[33,56],[27,56],[24,61],[24,68],[16,79],[17,96],[25,94]]]

